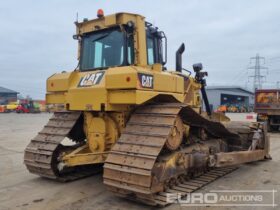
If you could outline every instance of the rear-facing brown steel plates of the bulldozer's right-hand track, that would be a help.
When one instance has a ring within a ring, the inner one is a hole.
[[[179,111],[174,105],[136,110],[104,165],[104,183],[111,191],[154,204],[152,169]]]

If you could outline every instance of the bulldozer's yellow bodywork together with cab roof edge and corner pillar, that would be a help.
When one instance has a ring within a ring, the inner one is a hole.
[[[187,90],[190,92],[187,92],[184,89],[184,78],[177,75],[178,73],[162,71],[160,64],[147,65],[146,28],[143,16],[118,13],[76,23],[77,34],[127,24],[128,21],[133,21],[135,24],[136,65],[108,68],[102,71],[103,78],[97,84],[94,82],[93,75],[88,74],[99,71],[55,74],[47,81],[47,103],[64,104],[70,110],[100,111],[105,108],[105,111],[119,111],[129,110],[132,106],[143,104],[158,95],[173,96],[174,100],[180,102],[191,95],[188,103],[195,107],[200,105],[198,98],[200,86],[193,79],[190,78],[189,90]],[[140,83],[139,73],[149,74],[153,78],[149,75],[141,75],[142,83]],[[85,85],[79,85],[80,81]],[[153,81],[153,85],[149,85],[150,81]]]

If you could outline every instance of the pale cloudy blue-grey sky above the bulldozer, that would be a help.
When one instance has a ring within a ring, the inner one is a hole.
[[[265,57],[264,87],[280,81],[280,1],[277,0],[9,0],[0,3],[0,86],[43,99],[46,79],[77,66],[76,14],[79,20],[131,12],[163,30],[168,39],[168,69],[186,45],[183,66],[202,62],[208,85],[252,88],[250,57]]]

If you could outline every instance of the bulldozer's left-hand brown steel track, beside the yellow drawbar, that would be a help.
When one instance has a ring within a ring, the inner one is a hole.
[[[71,147],[61,145],[81,116],[81,112],[56,112],[31,140],[24,151],[24,164],[29,172],[61,182],[73,181],[99,172],[98,166],[58,170],[59,154]]]

